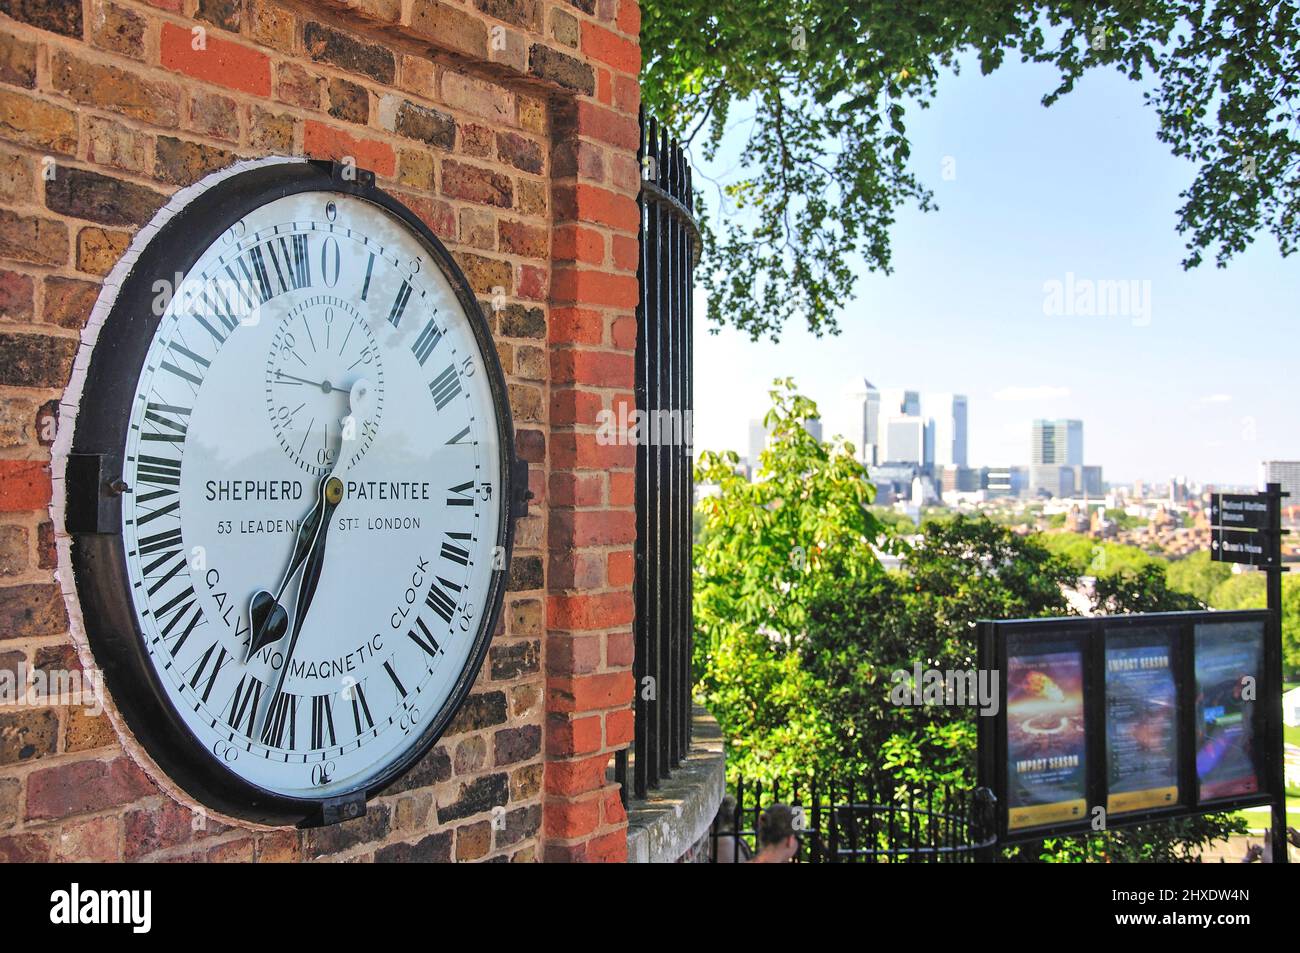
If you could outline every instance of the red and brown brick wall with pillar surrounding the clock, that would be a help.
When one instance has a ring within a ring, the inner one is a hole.
[[[99,282],[235,159],[352,157],[447,243],[534,493],[474,693],[365,818],[203,819],[110,719],[6,706],[0,861],[624,858],[633,450],[594,433],[632,402],[638,29],[636,0],[0,0],[0,671],[79,664],[49,447]]]

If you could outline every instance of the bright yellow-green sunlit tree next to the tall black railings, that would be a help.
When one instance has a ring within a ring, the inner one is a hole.
[[[874,489],[842,442],[806,429],[816,406],[777,381],[771,434],[755,480],[733,452],[703,452],[694,559],[696,686],[728,738],[728,770],[751,780],[811,771],[833,748],[801,664],[807,611],[820,594],[884,575],[875,546],[892,546],[867,504]]]

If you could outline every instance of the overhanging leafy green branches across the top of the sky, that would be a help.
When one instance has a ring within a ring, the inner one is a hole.
[[[708,316],[754,338],[792,317],[836,333],[849,265],[892,268],[901,205],[933,209],[907,170],[909,107],[974,53],[1060,72],[1050,105],[1095,68],[1148,83],[1157,137],[1195,164],[1176,229],[1184,268],[1219,267],[1260,231],[1300,238],[1300,30],[1292,1],[658,0],[642,9],[642,99],[712,156],[738,109],[754,118],[742,172],[720,187],[736,215],[703,217]],[[708,196],[712,200],[714,196]]]

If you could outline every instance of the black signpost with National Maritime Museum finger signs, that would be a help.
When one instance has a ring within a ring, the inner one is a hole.
[[[1210,558],[1221,563],[1254,566],[1265,573],[1271,632],[1265,647],[1269,718],[1282,723],[1282,484],[1268,484],[1264,493],[1216,493],[1210,499]],[[1283,793],[1286,767],[1280,735],[1274,740],[1270,785],[1273,802],[1273,861],[1287,862],[1287,801]]]

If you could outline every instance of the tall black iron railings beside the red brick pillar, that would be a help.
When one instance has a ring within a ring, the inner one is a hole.
[[[641,117],[641,302],[637,307],[636,737],[615,779],[644,798],[690,748],[692,274],[699,231],[690,166]],[[630,775],[630,785],[628,783]]]

